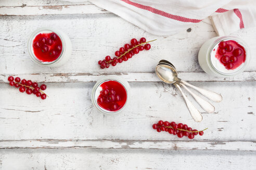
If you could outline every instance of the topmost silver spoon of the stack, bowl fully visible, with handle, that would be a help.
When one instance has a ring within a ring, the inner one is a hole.
[[[202,121],[202,115],[201,115],[200,111],[198,111],[198,109],[188,100],[186,95],[183,93],[180,85],[178,83],[176,83],[177,82],[176,70],[173,67],[171,67],[170,65],[159,64],[156,66],[156,74],[163,82],[174,83],[175,87],[178,90],[180,90],[180,92],[182,93],[182,96],[186,102],[186,105],[190,112],[191,117],[193,117],[193,119],[196,122]]]

